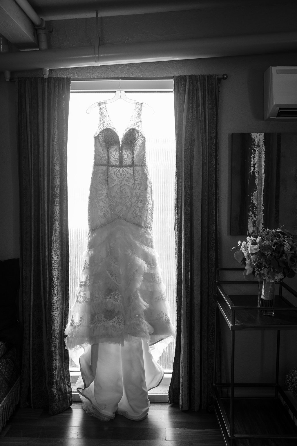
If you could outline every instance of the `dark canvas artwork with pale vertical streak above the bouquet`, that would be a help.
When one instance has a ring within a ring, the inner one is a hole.
[[[232,133],[231,235],[297,233],[297,133]]]

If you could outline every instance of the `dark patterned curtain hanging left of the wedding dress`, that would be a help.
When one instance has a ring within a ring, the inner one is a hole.
[[[67,128],[69,78],[20,78],[17,124],[24,328],[21,405],[72,404],[68,351]]]

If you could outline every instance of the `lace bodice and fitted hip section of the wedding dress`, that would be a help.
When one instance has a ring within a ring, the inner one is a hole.
[[[121,141],[106,103],[99,103],[88,215],[90,230],[115,219],[152,227],[153,198],[142,133],[142,103],[135,103]]]

